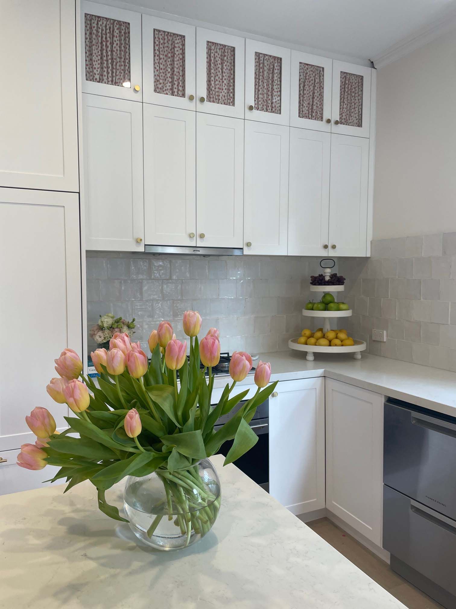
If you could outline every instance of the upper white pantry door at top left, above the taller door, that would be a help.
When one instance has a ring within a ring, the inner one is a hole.
[[[2,2],[0,186],[79,190],[74,0]]]

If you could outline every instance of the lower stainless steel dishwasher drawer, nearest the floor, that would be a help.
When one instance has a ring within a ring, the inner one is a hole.
[[[384,486],[383,547],[394,571],[444,607],[456,607],[456,521]]]

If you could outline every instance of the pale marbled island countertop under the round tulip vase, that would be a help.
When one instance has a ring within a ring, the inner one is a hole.
[[[0,496],[1,609],[404,609],[265,493],[212,458],[222,505],[178,552],[138,546],[83,482]],[[119,505],[120,483],[106,498]]]

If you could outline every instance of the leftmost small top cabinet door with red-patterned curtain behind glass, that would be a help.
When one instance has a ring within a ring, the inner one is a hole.
[[[81,2],[82,90],[142,101],[141,13]]]

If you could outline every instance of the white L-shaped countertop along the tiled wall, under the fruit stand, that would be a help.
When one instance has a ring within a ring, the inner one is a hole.
[[[359,360],[350,354],[316,354],[313,362],[306,361],[305,355],[292,350],[261,353],[254,365],[260,359],[271,362],[271,381],[327,376],[456,417],[455,372],[364,353]],[[226,377],[218,376],[214,386],[226,382]],[[247,376],[243,384],[253,382]]]

